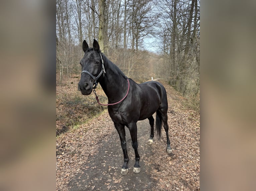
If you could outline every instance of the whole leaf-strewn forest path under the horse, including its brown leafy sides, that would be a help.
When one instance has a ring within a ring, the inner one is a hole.
[[[200,190],[200,115],[185,107],[184,98],[172,87],[165,88],[171,154],[166,152],[164,130],[148,145],[148,119],[138,121],[141,172],[132,171],[135,155],[126,128],[129,172],[121,175],[123,152],[106,110],[56,138],[56,190]]]

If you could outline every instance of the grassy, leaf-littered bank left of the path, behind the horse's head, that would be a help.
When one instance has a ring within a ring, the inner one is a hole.
[[[104,111],[107,107],[100,106],[95,95],[82,95],[77,87],[79,78],[74,76],[56,86],[56,135],[72,129],[74,126],[88,121]],[[107,102],[103,90],[97,88],[97,95],[102,102]]]

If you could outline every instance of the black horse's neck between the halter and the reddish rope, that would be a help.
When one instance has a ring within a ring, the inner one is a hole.
[[[108,62],[105,62],[104,59],[106,74],[99,83],[107,95],[109,103],[114,103],[121,100],[126,95],[128,82],[127,77],[113,71],[113,68],[111,69],[111,64],[113,64],[111,61],[108,60]]]

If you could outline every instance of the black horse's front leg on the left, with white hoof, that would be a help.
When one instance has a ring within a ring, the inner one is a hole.
[[[126,149],[125,129],[124,129],[123,124],[114,123],[114,125],[115,125],[115,128],[116,128],[116,130],[119,134],[120,141],[121,141],[121,147],[123,149],[123,154],[124,154],[124,165],[122,166],[121,174],[126,175],[128,173],[129,157],[128,157],[128,153],[127,153],[127,149]]]

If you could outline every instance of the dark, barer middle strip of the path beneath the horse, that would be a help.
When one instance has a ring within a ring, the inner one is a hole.
[[[77,175],[70,182],[71,191],[76,190],[152,190],[150,167],[145,165],[144,158],[153,155],[150,145],[146,144],[150,134],[146,120],[138,122],[139,154],[141,157],[140,174],[133,173],[134,151],[131,146],[131,136],[126,128],[127,149],[129,152],[129,172],[127,176],[120,174],[123,165],[123,152],[118,133],[115,129],[109,135],[99,140],[99,152],[88,160],[85,173]]]

